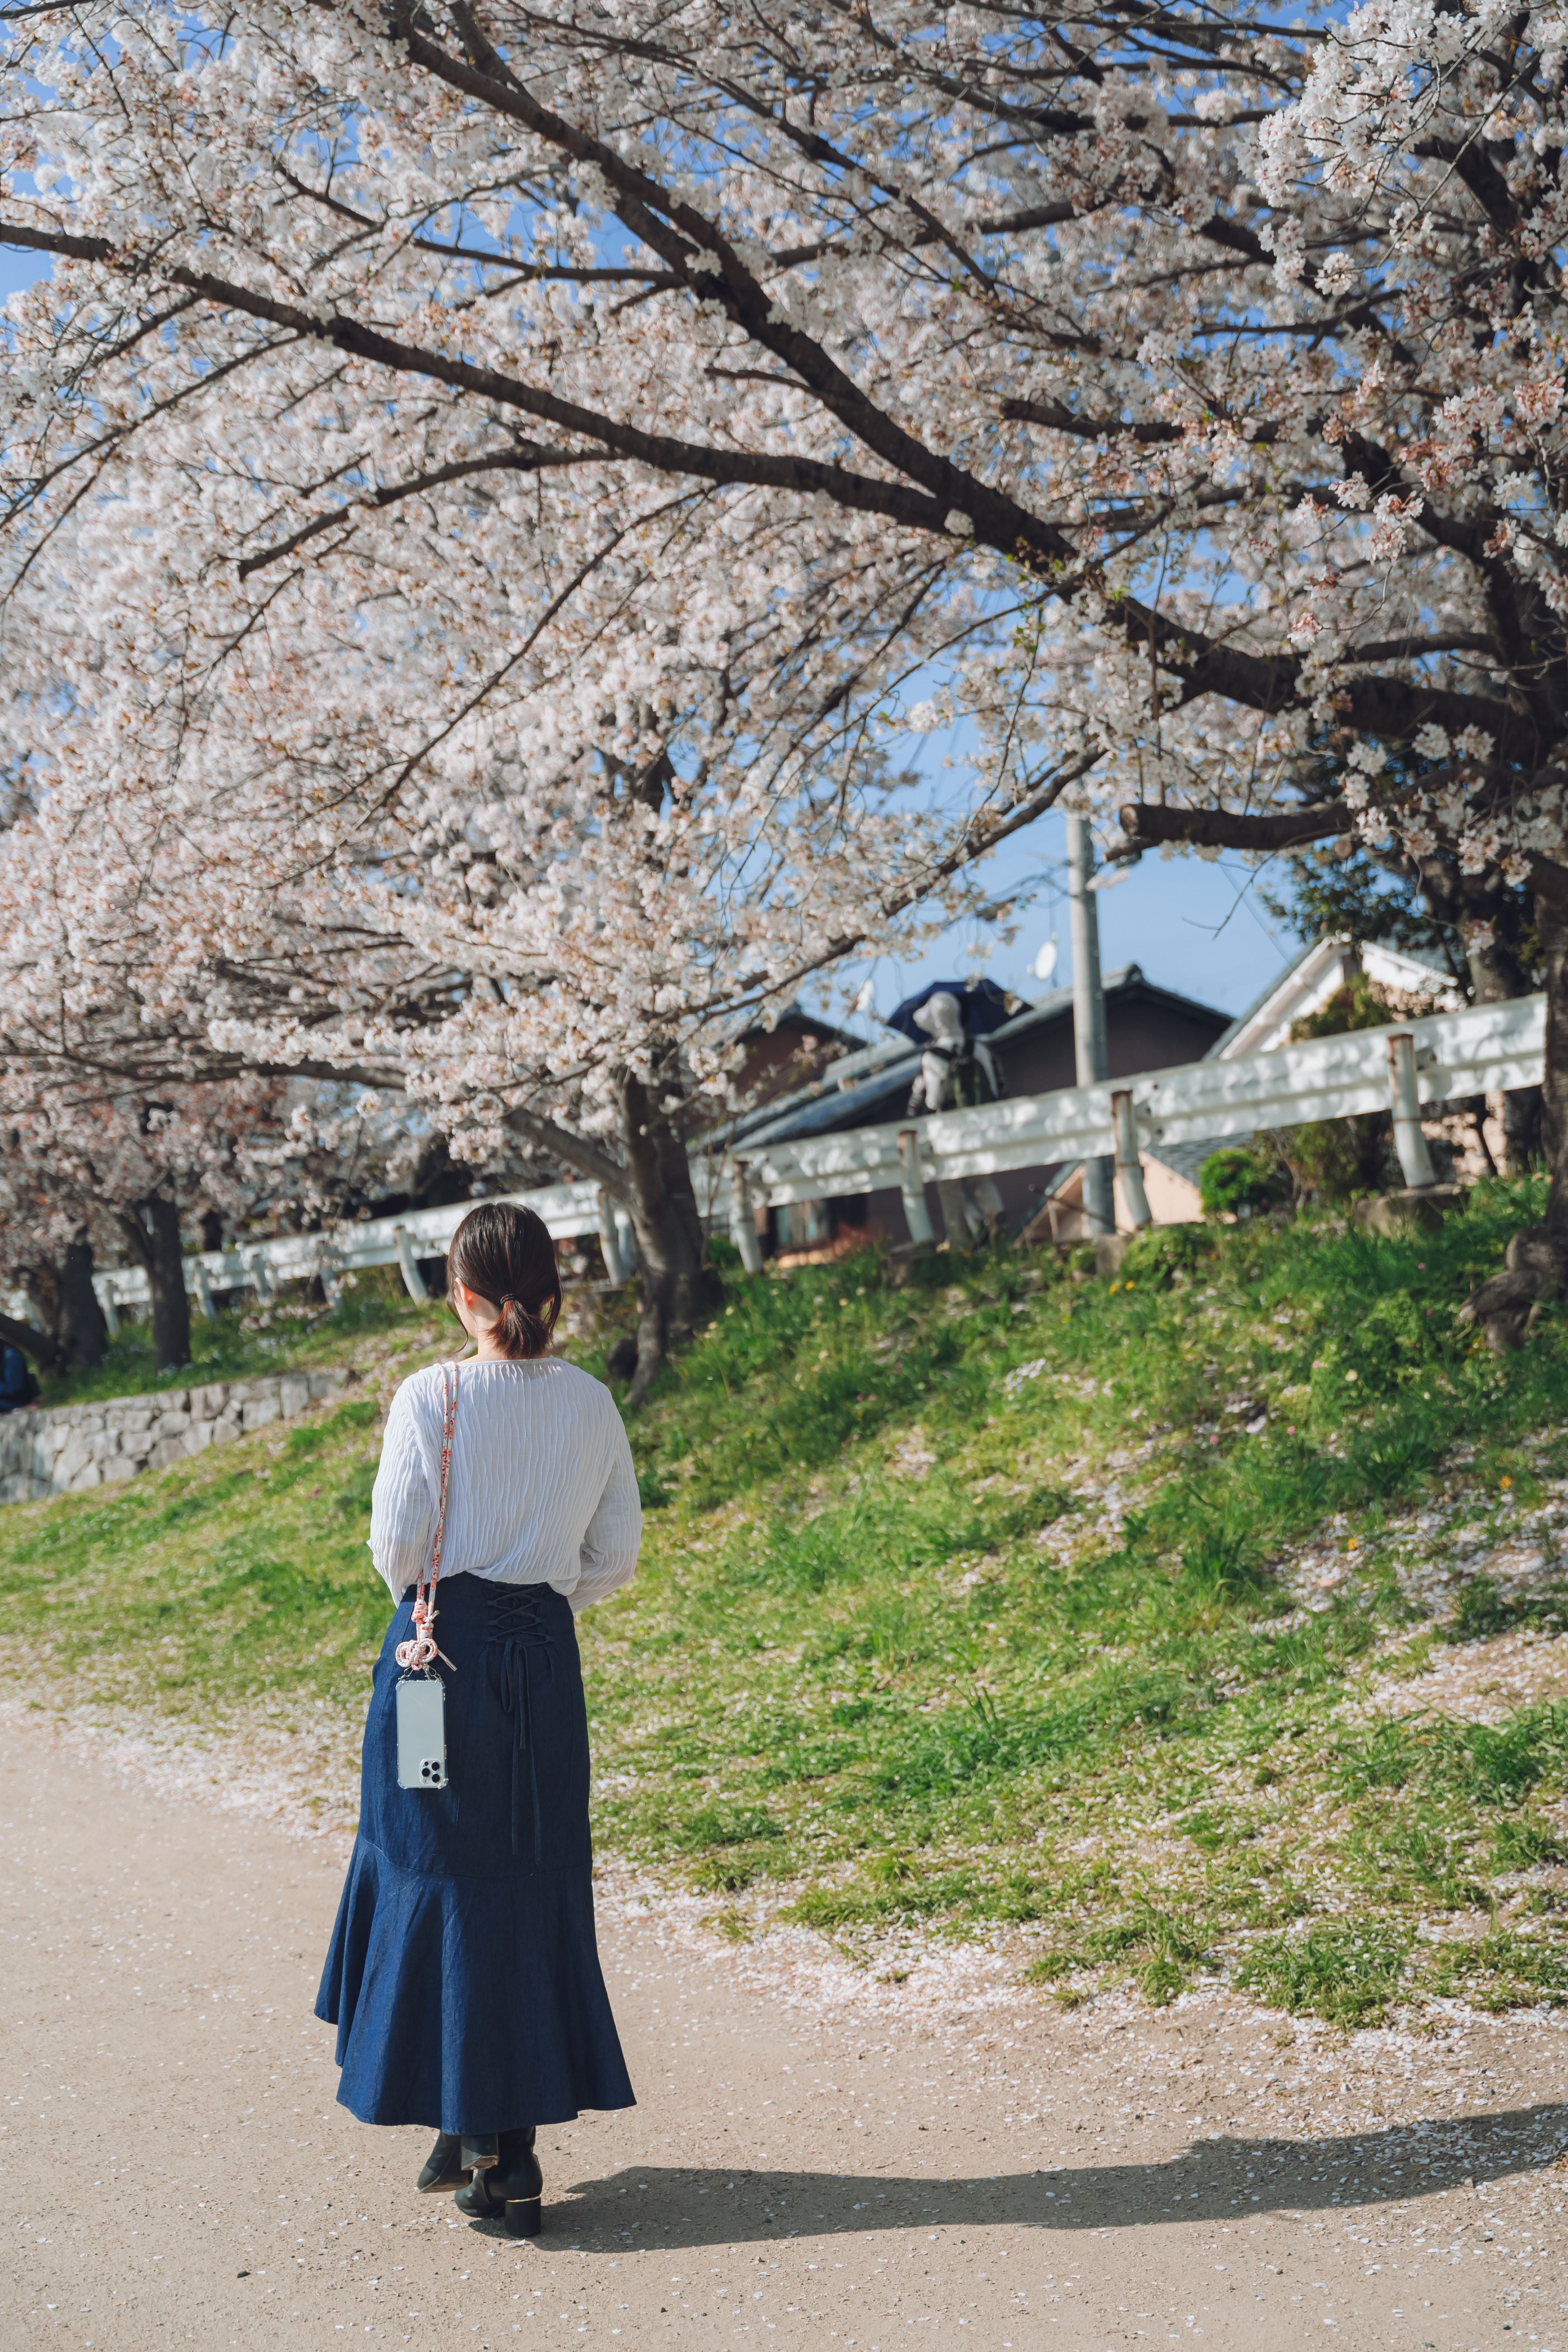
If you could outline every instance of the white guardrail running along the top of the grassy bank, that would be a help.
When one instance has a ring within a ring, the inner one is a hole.
[[[1422,1108],[1455,1096],[1540,1084],[1547,1040],[1547,1000],[1472,1004],[1425,1021],[1314,1037],[1237,1054],[1234,1061],[1190,1061],[1173,1070],[1025,1094],[978,1110],[943,1110],[886,1127],[806,1136],[799,1143],[741,1145],[710,1152],[693,1167],[698,1202],[715,1225],[726,1225],[743,1261],[757,1270],[762,1254],[752,1209],[830,1200],[898,1188],[910,1237],[931,1240],[924,1202],[929,1181],[994,1176],[1001,1169],[1056,1167],[1072,1160],[1117,1160],[1131,1223],[1147,1223],[1138,1152],[1159,1143],[1251,1136],[1260,1127],[1302,1127],[1307,1120],[1347,1120],[1363,1110],[1394,1112],[1399,1162],[1410,1185],[1434,1181],[1422,1136]],[[559,1183],[508,1200],[536,1209],[557,1240],[597,1232],[611,1282],[632,1268],[625,1209],[592,1183]],[[418,1258],[442,1256],[473,1202],[414,1209],[397,1218],[336,1225],[331,1232],[282,1235],[237,1249],[186,1258],[186,1284],[202,1308],[212,1291],[252,1287],[261,1298],[275,1282],[334,1275],[360,1265],[402,1265],[404,1284],[425,1296]],[[141,1268],[108,1268],[96,1277],[113,1315],[148,1296]]]

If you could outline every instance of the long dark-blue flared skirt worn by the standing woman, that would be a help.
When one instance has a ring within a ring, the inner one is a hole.
[[[376,1658],[360,1835],[315,2013],[362,2124],[468,2136],[632,2107],[592,1931],[588,1712],[571,1604],[442,1578],[447,1776],[397,1788],[395,1649]]]

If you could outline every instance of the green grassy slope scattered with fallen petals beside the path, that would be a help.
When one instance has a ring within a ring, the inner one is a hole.
[[[875,1256],[731,1275],[635,1425],[644,1569],[583,1623],[599,1842],[733,1936],[785,1910],[879,1966],[1004,1924],[1060,1999],[1204,1962],[1347,2023],[1568,1992],[1568,1703],[1481,1724],[1420,1686],[1455,1639],[1559,1623],[1549,1569],[1434,1583],[1568,1479],[1563,1322],[1502,1364],[1453,1322],[1537,1207],[1150,1235],[1110,1289],[1011,1251],[903,1289]],[[364,1395],[7,1512],[0,1592],[61,1686],[357,1708],[378,1399],[437,1331],[350,1301],[313,1355]]]

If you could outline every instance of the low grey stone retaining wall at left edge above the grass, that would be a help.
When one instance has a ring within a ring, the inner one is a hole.
[[[282,1371],[263,1381],[207,1381],[103,1404],[49,1404],[0,1418],[0,1503],[113,1486],[162,1470],[230,1437],[263,1430],[336,1395],[346,1371]]]

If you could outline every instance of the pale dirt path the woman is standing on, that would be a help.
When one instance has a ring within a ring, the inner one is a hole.
[[[1563,2027],[811,1997],[611,1905],[642,2107],[536,2244],[418,2199],[310,2016],[343,1865],[7,1710],[0,2343],[1568,2352]]]

